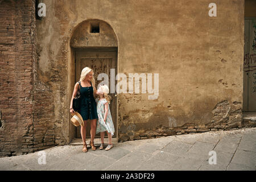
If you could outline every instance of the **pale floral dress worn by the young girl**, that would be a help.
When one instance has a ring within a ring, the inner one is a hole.
[[[111,133],[111,135],[114,135],[115,129],[114,129],[111,113],[110,113],[110,108],[106,118],[106,123],[104,122],[104,115],[105,115],[104,104],[108,101],[105,98],[103,100],[99,100],[99,98],[96,98],[96,102],[97,102],[97,114],[98,114],[96,133],[108,131],[108,133]],[[109,104],[108,104],[108,107],[109,107]]]

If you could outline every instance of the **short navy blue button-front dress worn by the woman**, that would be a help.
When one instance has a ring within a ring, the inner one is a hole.
[[[90,82],[90,84],[92,85],[92,82]],[[82,119],[98,119],[97,104],[93,97],[93,86],[81,86],[80,97],[80,114]]]

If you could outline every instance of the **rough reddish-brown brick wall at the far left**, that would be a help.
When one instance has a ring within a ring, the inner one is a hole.
[[[0,156],[54,145],[52,94],[36,80],[35,37],[35,1],[0,0]]]

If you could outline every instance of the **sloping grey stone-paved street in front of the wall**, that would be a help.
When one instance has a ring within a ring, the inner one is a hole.
[[[80,145],[48,148],[43,150],[46,164],[39,164],[42,151],[0,158],[0,170],[255,171],[256,128],[134,140],[115,144],[110,151],[81,150]],[[217,164],[209,164],[210,151],[216,152]]]

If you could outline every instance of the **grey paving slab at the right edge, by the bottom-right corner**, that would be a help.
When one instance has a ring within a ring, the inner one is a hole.
[[[238,149],[236,154],[234,154],[232,163],[243,164],[250,168],[255,168],[256,166],[256,152],[244,151]]]

